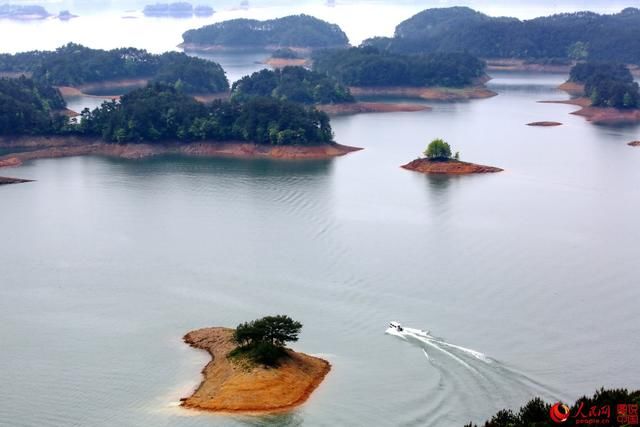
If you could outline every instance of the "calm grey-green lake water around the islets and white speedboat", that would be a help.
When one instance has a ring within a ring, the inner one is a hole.
[[[492,99],[333,119],[338,142],[365,148],[334,160],[2,171],[38,181],[0,187],[0,426],[453,426],[535,395],[637,388],[640,151],[626,143],[640,127],[537,103],[565,99],[566,76],[493,77]],[[540,120],[564,125],[525,126]],[[436,137],[505,172],[399,167]],[[208,361],[184,333],[276,313],[333,365],[307,404],[175,406]],[[432,338],[387,335],[390,320]]]

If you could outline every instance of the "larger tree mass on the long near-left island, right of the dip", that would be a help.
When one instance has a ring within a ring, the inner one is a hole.
[[[298,145],[331,143],[329,117],[274,98],[197,102],[173,86],[137,89],[119,102],[85,109],[76,132],[113,142],[247,141]]]

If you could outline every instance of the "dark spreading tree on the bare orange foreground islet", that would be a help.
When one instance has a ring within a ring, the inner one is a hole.
[[[253,363],[277,366],[287,356],[285,344],[298,341],[302,324],[289,316],[267,316],[241,323],[233,339],[238,344],[229,356],[248,358]]]

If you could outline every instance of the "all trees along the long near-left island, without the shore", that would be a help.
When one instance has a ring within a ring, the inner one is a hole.
[[[0,135],[81,135],[106,141],[247,141],[300,145],[333,142],[329,117],[272,97],[205,105],[175,86],[153,83],[69,121],[57,89],[32,79],[0,79]]]

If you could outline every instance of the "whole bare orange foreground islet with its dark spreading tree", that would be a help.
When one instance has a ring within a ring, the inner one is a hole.
[[[184,341],[207,351],[204,379],[181,405],[228,414],[272,414],[303,404],[331,370],[326,360],[285,348],[302,324],[267,316],[233,329],[189,332]]]

